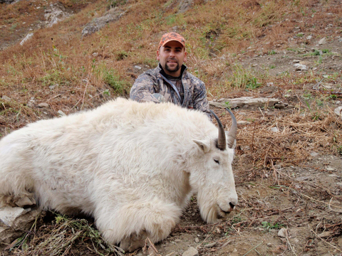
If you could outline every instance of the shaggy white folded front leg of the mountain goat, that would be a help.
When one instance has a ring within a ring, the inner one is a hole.
[[[132,252],[145,245],[146,238],[159,242],[170,235],[180,218],[182,209],[175,203],[160,200],[127,203],[120,208],[100,206],[95,221],[103,238]]]

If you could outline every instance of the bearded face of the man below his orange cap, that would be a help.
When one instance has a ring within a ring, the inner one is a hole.
[[[167,75],[180,76],[182,64],[187,60],[187,52],[178,41],[170,41],[157,50],[157,60]]]

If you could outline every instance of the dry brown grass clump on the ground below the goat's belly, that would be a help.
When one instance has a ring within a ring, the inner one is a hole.
[[[21,256],[82,255],[88,251],[93,255],[123,256],[123,250],[104,242],[88,220],[74,220],[63,215],[55,215],[53,223],[39,228],[33,224],[30,232],[16,239],[7,249],[12,255]]]

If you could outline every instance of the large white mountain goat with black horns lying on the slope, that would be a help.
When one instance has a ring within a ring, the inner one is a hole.
[[[202,112],[119,98],[28,124],[0,140],[0,207],[92,215],[129,252],[167,238],[193,193],[215,223],[237,204],[229,113],[225,134],[216,115],[219,129]]]

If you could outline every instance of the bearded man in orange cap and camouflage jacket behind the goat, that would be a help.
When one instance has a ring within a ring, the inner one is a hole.
[[[130,90],[138,102],[173,102],[201,110],[211,119],[204,82],[187,72],[185,39],[175,32],[165,33],[157,50],[157,68],[139,75]]]

